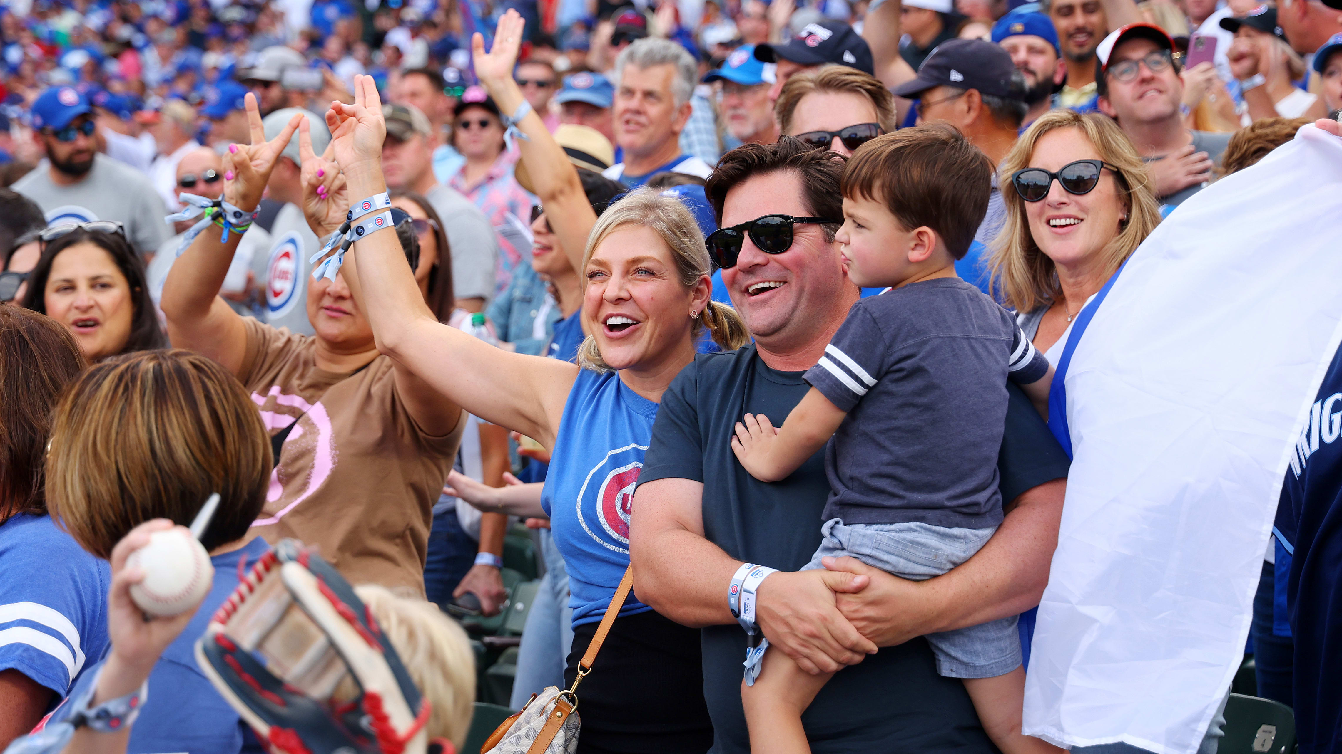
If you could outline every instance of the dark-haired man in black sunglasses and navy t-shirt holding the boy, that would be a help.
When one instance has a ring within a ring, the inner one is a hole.
[[[860,563],[839,566],[858,569],[858,582],[852,573],[796,572],[819,542],[815,522],[831,491],[823,453],[769,484],[731,452],[742,413],[782,419],[801,400],[809,389],[803,370],[825,357],[858,301],[835,241],[841,174],[841,162],[782,137],[729,152],[706,186],[722,225],[707,241],[710,255],[754,343],[699,357],[662,396],[629,523],[635,589],[671,620],[703,627],[714,751],[749,751],[746,635],[727,606],[742,561],[793,572],[773,573],[757,592],[769,643],[812,672],[845,668],[803,719],[812,751],[992,751],[962,684],[938,676],[926,641],[915,637],[1007,617],[1039,600],[1067,460],[1024,396],[1008,411],[998,460],[1011,513],[977,555],[933,581]],[[867,640],[880,651],[864,655]]]

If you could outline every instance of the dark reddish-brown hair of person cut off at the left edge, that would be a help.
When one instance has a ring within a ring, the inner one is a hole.
[[[42,456],[51,409],[85,364],[64,325],[0,303],[0,523],[24,513],[46,515]]]

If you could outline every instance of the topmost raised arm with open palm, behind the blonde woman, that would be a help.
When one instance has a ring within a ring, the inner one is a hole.
[[[522,90],[513,80],[523,24],[517,11],[503,13],[494,32],[494,48],[488,52],[484,51],[484,39],[479,34],[471,38],[475,75],[505,115],[513,115],[526,102]],[[535,196],[541,197],[545,217],[560,237],[569,264],[581,275],[582,252],[592,225],[596,225],[596,212],[586,200],[578,172],[537,111],[529,111],[517,127],[526,134],[526,138],[517,140],[517,145],[535,186]]]

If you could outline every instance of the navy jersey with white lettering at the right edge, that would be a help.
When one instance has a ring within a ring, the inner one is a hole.
[[[1333,357],[1296,441],[1276,533],[1291,557],[1287,602],[1295,636],[1300,754],[1342,749],[1342,350]]]

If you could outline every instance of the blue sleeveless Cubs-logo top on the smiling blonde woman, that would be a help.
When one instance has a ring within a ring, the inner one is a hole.
[[[582,369],[564,404],[541,504],[569,572],[573,625],[601,620],[629,568],[629,503],[658,404]],[[652,608],[629,596],[620,614]]]

